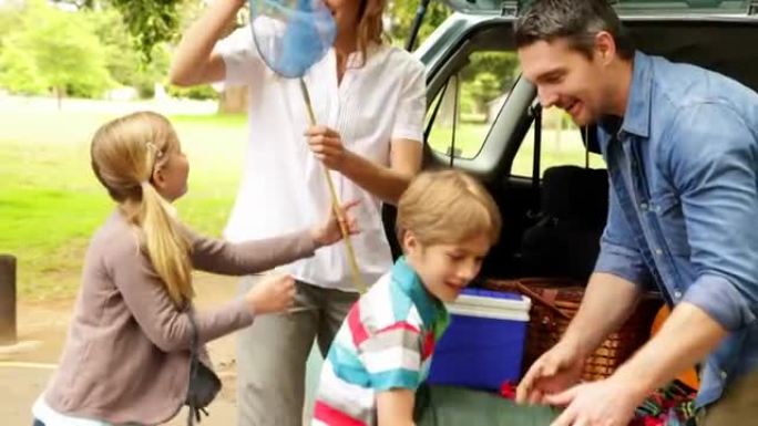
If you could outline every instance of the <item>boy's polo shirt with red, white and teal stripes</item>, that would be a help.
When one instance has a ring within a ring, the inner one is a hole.
[[[313,426],[376,424],[378,392],[416,391],[449,321],[400,258],[350,309],[324,362]]]

